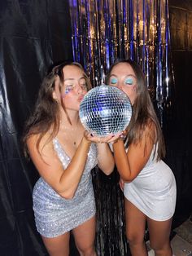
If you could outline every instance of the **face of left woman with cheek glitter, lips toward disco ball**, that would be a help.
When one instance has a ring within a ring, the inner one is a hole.
[[[63,100],[66,109],[79,110],[81,100],[88,91],[87,82],[81,68],[67,65],[63,68],[64,81],[59,90],[59,77],[55,85],[53,97]]]

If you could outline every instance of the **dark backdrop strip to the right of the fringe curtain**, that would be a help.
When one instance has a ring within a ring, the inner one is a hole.
[[[167,162],[177,181],[173,227],[192,213],[192,1],[169,0],[171,55],[175,81],[172,112],[166,113]]]

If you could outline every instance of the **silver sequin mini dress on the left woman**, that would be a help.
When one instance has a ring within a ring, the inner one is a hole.
[[[58,139],[53,139],[53,144],[63,169],[66,169],[71,158],[64,152]],[[96,210],[90,171],[96,165],[97,148],[92,143],[81,182],[72,199],[59,196],[41,177],[37,180],[33,188],[33,211],[37,231],[42,236],[60,236],[94,216]]]

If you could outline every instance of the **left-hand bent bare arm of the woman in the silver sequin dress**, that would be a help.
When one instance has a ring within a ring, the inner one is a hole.
[[[37,151],[37,135],[33,135],[28,139],[28,151],[33,160],[39,174],[52,188],[61,196],[69,199],[76,192],[76,188],[80,183],[87,154],[89,152],[90,142],[83,137],[81,143],[76,149],[72,161],[66,170],[63,170],[62,163],[59,161],[55,153],[53,143],[46,143],[47,138],[41,139],[40,153]]]

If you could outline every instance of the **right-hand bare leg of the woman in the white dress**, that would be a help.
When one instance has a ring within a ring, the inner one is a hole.
[[[172,218],[166,221],[155,221],[147,218],[147,224],[151,248],[155,250],[155,256],[172,256],[172,248],[169,241]]]

